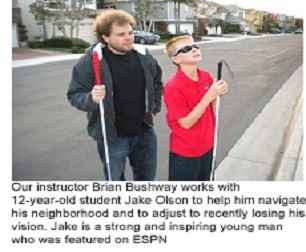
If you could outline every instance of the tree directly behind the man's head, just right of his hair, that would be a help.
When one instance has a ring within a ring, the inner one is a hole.
[[[162,3],[156,4],[158,3],[156,0],[133,0],[133,3],[135,10],[133,15],[137,23],[143,31],[149,31],[151,27],[147,26],[147,20],[156,10],[163,8]]]

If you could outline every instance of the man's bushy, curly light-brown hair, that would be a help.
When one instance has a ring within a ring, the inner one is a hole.
[[[106,44],[102,38],[102,35],[109,37],[112,25],[114,23],[118,26],[123,26],[126,24],[134,26],[136,21],[131,14],[123,10],[110,9],[101,12],[93,23],[93,31],[99,42]]]

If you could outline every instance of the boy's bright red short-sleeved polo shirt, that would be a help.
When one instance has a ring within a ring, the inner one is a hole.
[[[186,117],[200,102],[213,83],[208,72],[198,69],[198,81],[191,80],[178,69],[164,90],[167,123],[171,128],[170,151],[184,157],[200,157],[214,145],[215,116],[210,104],[199,120],[183,129],[177,122]]]

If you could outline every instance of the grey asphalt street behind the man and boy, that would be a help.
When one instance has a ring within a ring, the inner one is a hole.
[[[221,98],[217,163],[262,111],[293,72],[303,64],[303,36],[268,36],[236,42],[201,44],[201,69],[216,78],[225,60],[234,72],[222,78],[230,91]],[[176,67],[162,49],[151,51],[166,82]],[[13,69],[13,180],[103,180],[95,142],[87,135],[86,114],[67,101],[75,60]],[[155,119],[158,137],[157,181],[168,177],[169,129],[165,107]],[[263,129],[264,130],[264,129]],[[269,141],[269,139],[267,139]],[[128,163],[128,162],[127,162]],[[127,165],[127,178],[132,179]]]

